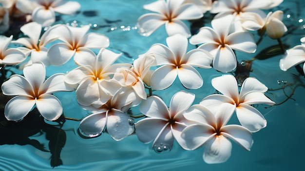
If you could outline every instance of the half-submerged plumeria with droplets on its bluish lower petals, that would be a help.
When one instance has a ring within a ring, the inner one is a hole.
[[[140,102],[141,100],[138,100],[132,89],[118,90],[101,107],[85,107],[85,109],[94,113],[82,119],[79,129],[84,135],[95,137],[106,128],[114,140],[121,140],[134,132],[133,119],[126,112],[130,107],[136,106]]]

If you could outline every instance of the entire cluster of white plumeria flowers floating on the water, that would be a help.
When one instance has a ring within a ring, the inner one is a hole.
[[[264,94],[267,87],[256,78],[248,77],[239,92],[235,77],[223,73],[236,68],[233,50],[256,51],[253,35],[247,30],[259,30],[261,35],[267,32],[274,39],[284,35],[287,28],[281,21],[283,12],[266,15],[262,11],[282,1],[157,0],[144,5],[145,9],[156,13],[139,17],[140,33],[151,36],[165,24],[169,36],[167,46],[154,44],[129,64],[115,63],[121,54],[107,49],[110,40],[105,35],[87,33],[88,25],[57,24],[41,35],[43,26],[55,22],[54,12],[72,14],[80,8],[77,2],[0,0],[3,8],[14,4],[21,12],[31,14],[33,20],[20,28],[26,38],[12,41],[12,37],[0,37],[1,65],[20,64],[30,56],[22,63],[24,76],[13,75],[1,86],[4,95],[16,95],[6,104],[5,116],[8,120],[19,121],[36,106],[45,119],[56,120],[63,109],[57,97],[51,94],[76,90],[79,106],[93,113],[79,125],[80,132],[87,136],[98,136],[107,129],[114,140],[121,140],[135,132],[144,143],[154,140],[153,148],[163,145],[170,149],[176,139],[185,150],[204,146],[203,159],[207,163],[225,162],[232,147],[228,138],[250,150],[252,133],[267,126],[264,116],[251,105],[275,103]],[[182,20],[200,19],[207,11],[217,13],[211,27],[202,27],[191,36]],[[55,40],[60,42],[47,48],[46,45]],[[24,47],[7,48],[10,43]],[[201,45],[187,52],[189,43]],[[98,54],[92,49],[99,49]],[[77,68],[45,80],[45,67],[64,65],[71,58]],[[281,69],[304,61],[305,46],[296,46],[281,60]],[[153,71],[152,66],[158,67]],[[203,78],[195,67],[220,71],[223,76],[213,78],[211,84],[222,95],[209,95],[199,104],[192,104],[195,95],[180,91],[172,96],[169,107],[158,96],[147,97],[146,88],[166,89],[177,76],[186,89],[201,88]],[[147,117],[133,124],[127,111],[137,105]],[[227,125],[234,112],[240,125]]]

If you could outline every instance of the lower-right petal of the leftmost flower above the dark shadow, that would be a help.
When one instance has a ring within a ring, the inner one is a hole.
[[[39,113],[47,120],[56,120],[62,114],[62,106],[54,95],[43,94],[36,100]]]

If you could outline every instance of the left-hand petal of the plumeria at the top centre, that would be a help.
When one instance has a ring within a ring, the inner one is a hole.
[[[155,30],[165,24],[167,20],[160,14],[144,14],[138,21],[139,31],[142,36],[150,36]]]

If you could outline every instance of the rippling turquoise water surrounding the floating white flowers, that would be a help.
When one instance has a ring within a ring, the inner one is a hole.
[[[152,44],[166,44],[167,35],[164,27],[158,29],[150,37],[142,37],[138,34],[136,21],[139,16],[149,12],[142,6],[152,1],[154,0],[78,0],[82,5],[80,12],[74,16],[61,16],[57,22],[78,25],[92,24],[92,32],[102,33],[110,38],[108,49],[123,53],[117,62],[132,63],[133,59],[145,53]],[[288,48],[300,44],[300,38],[305,36],[305,21],[300,20],[305,20],[305,3],[303,0],[284,0],[283,4],[272,11],[277,9],[284,11],[284,23],[291,31],[282,38],[282,41]],[[290,17],[287,18],[287,15]],[[255,32],[253,33],[255,34]],[[276,44],[276,40],[264,37],[255,54],[237,53],[237,60],[239,62],[250,60],[263,49]],[[189,50],[194,48],[194,45],[189,45]],[[225,163],[206,164],[202,159],[203,148],[185,151],[175,142],[171,152],[159,154],[152,150],[152,144],[141,143],[134,134],[121,141],[114,141],[107,133],[102,133],[96,138],[84,139],[77,133],[79,124],[77,121],[66,120],[60,130],[59,127],[33,124],[39,122],[37,118],[28,117],[22,121],[23,123],[16,123],[11,127],[1,127],[0,170],[303,170],[305,161],[305,81],[304,77],[298,76],[301,81],[294,83],[293,74],[298,74],[295,68],[291,68],[287,72],[280,70],[281,57],[278,55],[264,60],[254,60],[252,72],[249,75],[256,77],[269,89],[278,89],[289,83],[293,83],[292,89],[297,85],[300,86],[295,88],[294,94],[287,101],[285,101],[287,98],[285,93],[286,95],[292,94],[289,86],[266,93],[276,104],[285,102],[272,107],[256,106],[267,119],[267,127],[253,133],[254,144],[250,152],[232,143],[231,157]],[[48,67],[47,75],[51,76],[58,72],[66,73],[75,67],[74,61],[70,60],[60,67]],[[16,69],[14,71],[19,72]],[[188,90],[196,95],[194,104],[199,103],[203,97],[215,93],[210,81],[213,77],[222,75],[214,69],[198,69],[198,71],[204,79],[204,85],[198,90]],[[154,91],[153,95],[161,96],[165,103],[169,104],[172,95],[180,90],[185,89],[179,80],[176,80],[169,89]],[[61,101],[66,117],[80,119],[88,115],[78,106],[75,92],[56,93],[55,95]],[[139,113],[137,108],[132,111],[134,114]],[[231,122],[236,122],[236,118],[232,118]],[[56,147],[57,151],[51,150],[53,147]],[[60,155],[62,165],[60,165],[58,155]],[[53,160],[51,160],[51,156],[54,157]]]

